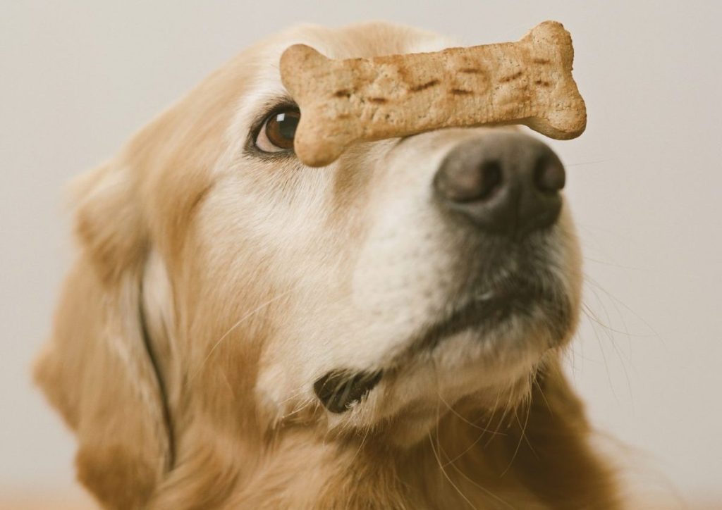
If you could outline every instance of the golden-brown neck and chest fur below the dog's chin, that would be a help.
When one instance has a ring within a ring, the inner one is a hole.
[[[181,436],[178,467],[151,506],[617,508],[612,471],[589,446],[583,409],[561,375],[541,381],[529,405],[496,414],[454,409],[409,449],[379,432],[340,440],[297,426],[238,442],[196,428]]]

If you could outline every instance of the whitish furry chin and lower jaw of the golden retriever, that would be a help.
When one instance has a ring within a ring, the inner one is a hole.
[[[490,413],[516,407],[529,395],[545,356],[562,343],[531,317],[512,316],[483,333],[464,330],[386,369],[378,386],[346,411],[328,413],[329,430],[383,431],[391,444],[411,447],[460,405]]]

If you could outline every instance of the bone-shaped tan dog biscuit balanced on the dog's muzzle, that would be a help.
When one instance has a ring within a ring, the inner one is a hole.
[[[294,149],[321,167],[355,141],[452,126],[525,124],[573,139],[586,127],[573,58],[569,32],[551,21],[516,43],[435,53],[332,60],[292,45],[281,56],[281,79],[301,110]]]

